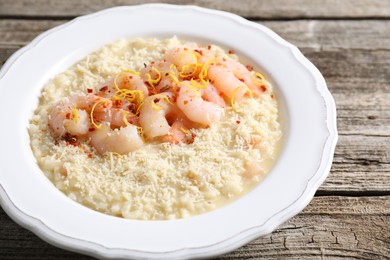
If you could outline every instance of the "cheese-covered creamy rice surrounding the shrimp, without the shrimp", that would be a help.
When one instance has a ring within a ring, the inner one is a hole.
[[[178,219],[225,205],[261,181],[282,135],[269,83],[260,99],[235,104],[225,109],[221,121],[186,133],[196,136],[192,144],[149,143],[122,156],[99,156],[87,143],[54,145],[47,125],[56,102],[87,88],[96,91],[112,75],[139,71],[144,63],[162,59],[166,50],[183,44],[194,45],[176,37],[120,40],[47,83],[30,122],[31,148],[42,171],[69,198],[124,218]],[[217,57],[235,57],[218,46],[211,49]],[[248,165],[264,170],[252,171]]]

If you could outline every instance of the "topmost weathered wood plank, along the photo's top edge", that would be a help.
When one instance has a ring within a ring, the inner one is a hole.
[[[198,5],[260,19],[390,17],[389,0],[2,0],[0,16],[74,17],[113,6],[155,2]]]

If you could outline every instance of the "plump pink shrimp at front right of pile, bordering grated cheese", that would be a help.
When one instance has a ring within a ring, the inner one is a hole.
[[[183,81],[179,95],[177,97],[177,105],[183,113],[193,122],[203,125],[210,125],[213,122],[219,121],[223,108],[219,105],[205,101],[200,94],[189,87],[189,81]]]

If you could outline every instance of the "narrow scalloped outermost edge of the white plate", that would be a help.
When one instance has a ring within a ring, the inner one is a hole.
[[[319,70],[306,58],[303,56],[303,54],[299,51],[297,47],[292,45],[291,43],[287,42],[286,40],[282,39],[279,35],[274,33],[272,30],[268,29],[267,27],[257,24],[251,21],[248,21],[238,15],[228,13],[225,11],[219,11],[219,10],[213,10],[208,8],[203,8],[199,6],[193,6],[193,5],[172,5],[172,4],[142,4],[142,5],[134,5],[134,6],[119,6],[119,7],[112,7],[105,10],[101,10],[95,13],[83,15],[80,17],[77,17],[71,21],[68,21],[62,25],[56,26],[54,28],[51,28],[40,35],[38,35],[34,40],[32,40],[30,43],[28,43],[26,46],[22,47],[18,51],[16,51],[13,55],[11,55],[10,58],[6,61],[6,63],[3,65],[3,67],[0,70],[0,81],[2,78],[7,74],[9,68],[13,66],[13,64],[21,57],[25,52],[28,52],[30,49],[34,48],[36,45],[39,44],[41,40],[43,40],[48,35],[55,33],[57,31],[60,31],[74,23],[77,23],[79,21],[83,21],[86,19],[94,18],[100,15],[104,15],[105,13],[109,12],[115,12],[117,10],[124,10],[124,9],[137,9],[137,8],[148,8],[151,7],[161,7],[161,8],[176,8],[180,10],[195,10],[197,12],[207,12],[207,13],[213,13],[217,15],[222,15],[225,17],[228,17],[229,19],[233,19],[240,24],[244,24],[246,26],[252,26],[257,29],[261,29],[267,33],[268,36],[272,37],[274,40],[276,40],[281,45],[284,45],[286,48],[289,49],[289,51],[293,54],[295,59],[304,67],[306,68],[310,74],[312,74],[313,78],[316,80],[316,89],[319,94],[321,94],[321,97],[324,99],[324,103],[326,105],[326,119],[327,119],[327,131],[328,131],[328,137],[324,144],[324,149],[322,150],[322,157],[320,160],[320,164],[318,166],[318,170],[313,173],[312,177],[307,182],[306,188],[304,189],[303,193],[288,207],[278,211],[274,215],[272,215],[267,221],[265,221],[262,225],[256,226],[253,229],[260,229],[261,232],[256,232],[255,235],[244,235],[244,237],[239,241],[234,241],[234,238],[237,236],[233,236],[230,238],[227,238],[224,241],[221,241],[216,245],[209,245],[204,246],[201,248],[181,248],[178,250],[172,250],[167,252],[137,252],[136,250],[132,249],[120,249],[120,248],[107,248],[104,245],[97,244],[95,242],[91,241],[85,241],[82,239],[74,238],[74,237],[67,237],[66,235],[60,234],[57,231],[52,230],[50,227],[45,225],[41,220],[36,219],[35,217],[29,216],[23,210],[19,209],[14,203],[12,202],[11,198],[9,198],[8,194],[6,193],[5,189],[0,183],[0,204],[3,207],[4,211],[19,225],[31,230],[33,233],[38,235],[40,238],[45,240],[46,242],[53,244],[55,246],[76,251],[88,255],[92,255],[95,257],[108,257],[108,258],[127,258],[127,257],[164,257],[164,258],[181,258],[181,257],[209,257],[209,256],[216,256],[221,253],[229,252],[235,248],[238,248],[249,241],[264,236],[266,234],[271,233],[277,226],[285,222],[287,219],[290,219],[291,217],[298,214],[313,198],[315,191],[318,189],[318,187],[323,183],[323,181],[328,176],[335,146],[338,139],[337,134],[337,126],[336,126],[336,106],[335,102],[326,86],[326,82],[319,72]],[[327,151],[325,151],[327,150]],[[323,169],[320,171],[320,169]],[[314,181],[313,184],[309,185],[311,181]],[[244,234],[247,231],[242,231],[241,234]],[[229,241],[232,241],[229,245]],[[228,244],[228,245],[223,245]],[[221,247],[222,245],[222,247]],[[218,249],[217,249],[217,248]]]

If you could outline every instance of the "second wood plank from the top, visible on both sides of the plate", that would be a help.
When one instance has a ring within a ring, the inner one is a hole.
[[[68,20],[0,19],[0,44],[25,45],[40,33]],[[299,48],[311,49],[366,49],[390,47],[390,21],[261,21],[284,39]],[[375,39],[375,40],[373,40]]]

